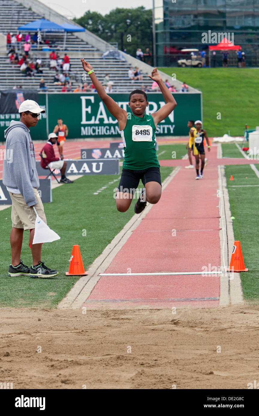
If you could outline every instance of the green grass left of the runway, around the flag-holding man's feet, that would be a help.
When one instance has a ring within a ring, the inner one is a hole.
[[[162,181],[172,168],[161,167]],[[47,267],[59,270],[53,279],[7,277],[11,262],[10,230],[11,208],[0,211],[0,306],[52,307],[71,289],[79,277],[66,276],[74,244],[78,244],[85,269],[102,253],[116,234],[134,215],[134,199],[126,213],[116,210],[113,198],[120,175],[83,176],[72,185],[63,185],[52,191],[53,202],[44,204],[47,223],[61,239],[42,246],[42,261]],[[115,183],[109,182],[117,179]],[[99,188],[107,186],[94,195]],[[83,236],[86,230],[86,236]],[[30,266],[29,232],[25,231],[21,258]]]

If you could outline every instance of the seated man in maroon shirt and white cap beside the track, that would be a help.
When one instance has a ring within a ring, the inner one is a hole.
[[[53,144],[56,143],[58,136],[55,133],[50,133],[48,136],[48,141],[45,146],[42,147],[41,154],[43,159],[40,161],[40,166],[45,169],[49,167],[50,169],[59,169],[61,173],[60,182],[62,183],[73,183],[65,176],[67,162],[63,156],[56,157],[53,149]]]

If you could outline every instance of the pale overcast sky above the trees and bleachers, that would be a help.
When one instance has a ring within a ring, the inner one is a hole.
[[[87,10],[106,15],[110,10],[116,9],[116,7],[136,8],[144,6],[146,9],[152,9],[153,6],[153,0],[130,0],[129,2],[126,2],[125,0],[112,0],[111,2],[107,0],[54,0],[54,2],[44,0],[39,1],[67,18],[72,18],[74,16],[81,17]]]

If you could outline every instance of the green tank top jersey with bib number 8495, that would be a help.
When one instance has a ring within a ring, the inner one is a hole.
[[[160,168],[155,151],[155,123],[147,114],[136,117],[128,113],[124,130],[120,130],[124,144],[123,168],[141,171],[152,166]]]

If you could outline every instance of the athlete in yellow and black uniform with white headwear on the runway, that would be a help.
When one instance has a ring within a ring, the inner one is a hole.
[[[200,120],[195,121],[195,129],[196,132],[192,133],[192,141],[193,141],[193,155],[195,156],[196,160],[196,178],[195,179],[202,179],[203,178],[203,168],[205,165],[205,150],[203,145],[203,139],[205,138],[207,141],[208,151],[210,151],[210,144],[209,139],[207,137],[206,130],[202,129],[202,122]],[[199,174],[199,155],[201,159],[201,169]]]

